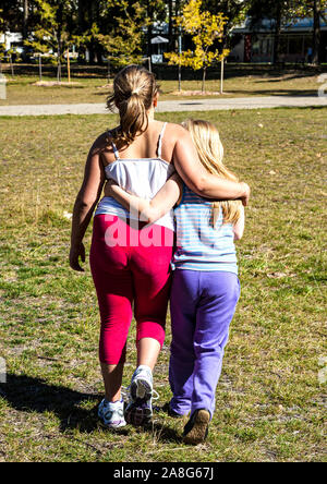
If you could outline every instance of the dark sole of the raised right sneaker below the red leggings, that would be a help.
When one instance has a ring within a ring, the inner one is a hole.
[[[134,406],[125,411],[125,421],[135,426],[148,425],[153,420],[153,410],[144,409],[142,403],[153,397],[153,389],[148,382],[138,378],[131,385],[131,397]],[[140,406],[140,407],[138,407]]]

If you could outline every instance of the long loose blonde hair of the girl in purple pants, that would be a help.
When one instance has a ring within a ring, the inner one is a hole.
[[[182,123],[190,131],[199,160],[209,173],[238,182],[238,177],[222,162],[223,146],[215,124],[202,120],[187,120]],[[220,201],[213,203],[213,225],[216,226],[220,210],[223,223],[235,223],[241,216],[241,201]]]

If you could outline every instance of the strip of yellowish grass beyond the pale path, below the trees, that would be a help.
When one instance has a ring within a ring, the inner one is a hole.
[[[39,87],[34,84],[38,77],[33,75],[7,75],[8,98],[0,99],[0,106],[5,105],[39,105],[39,104],[74,104],[74,102],[105,102],[109,94],[106,78],[98,76],[74,76],[77,86]],[[293,96],[316,95],[319,84],[318,75],[301,72],[278,72],[276,75],[245,75],[228,77],[225,82],[223,98],[246,96]],[[44,81],[53,82],[53,77],[44,77]],[[66,78],[63,78],[66,82]],[[180,99],[183,96],[173,94],[178,90],[177,81],[160,81],[161,98]],[[201,90],[201,81],[183,81],[183,90]],[[219,76],[216,81],[208,80],[206,90],[220,89]],[[198,96],[197,96],[198,97]],[[221,96],[214,96],[221,97]],[[194,97],[193,97],[194,98]],[[196,96],[195,96],[196,98]]]

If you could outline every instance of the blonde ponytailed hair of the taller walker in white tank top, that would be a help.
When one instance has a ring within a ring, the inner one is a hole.
[[[128,65],[117,74],[113,93],[107,99],[107,107],[111,111],[114,108],[119,110],[120,128],[113,133],[116,142],[129,146],[147,130],[147,111],[157,93],[154,74],[141,65]]]

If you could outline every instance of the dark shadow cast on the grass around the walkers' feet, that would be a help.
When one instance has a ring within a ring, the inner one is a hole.
[[[101,396],[84,394],[59,385],[49,385],[41,378],[27,375],[7,375],[7,384],[0,384],[0,397],[16,411],[21,412],[52,412],[60,420],[61,433],[77,428],[90,434],[100,427],[97,416]],[[83,409],[83,404],[94,402],[92,409]],[[180,441],[179,434],[171,427],[156,421],[144,428],[144,432],[155,434],[160,441]],[[114,434],[129,435],[129,427],[114,431]]]

